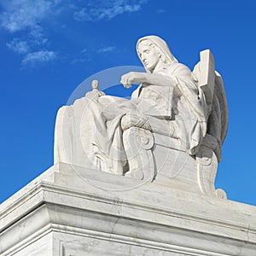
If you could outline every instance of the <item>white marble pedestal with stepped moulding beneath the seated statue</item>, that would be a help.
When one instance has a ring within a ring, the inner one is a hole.
[[[59,163],[0,206],[1,255],[256,255],[256,207]]]

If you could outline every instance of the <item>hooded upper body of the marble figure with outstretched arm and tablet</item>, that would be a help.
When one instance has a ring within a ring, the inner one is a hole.
[[[177,62],[161,38],[139,39],[137,53],[147,73],[127,73],[121,79],[125,86],[141,84],[131,101],[141,115],[155,118],[153,129],[156,119],[164,120],[164,132],[183,140],[189,154],[195,154],[207,131],[207,105],[195,75]]]

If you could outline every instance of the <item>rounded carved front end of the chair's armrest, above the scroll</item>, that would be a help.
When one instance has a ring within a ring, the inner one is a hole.
[[[122,129],[125,131],[133,126],[151,130],[147,116],[139,115],[137,113],[126,113],[125,116],[121,119]]]

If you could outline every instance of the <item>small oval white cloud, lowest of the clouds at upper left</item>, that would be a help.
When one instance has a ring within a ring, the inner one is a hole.
[[[56,53],[54,51],[49,50],[39,50],[32,53],[29,53],[26,55],[26,57],[21,62],[22,66],[25,66],[27,64],[31,64],[34,66],[38,63],[44,63],[53,61],[56,58]]]

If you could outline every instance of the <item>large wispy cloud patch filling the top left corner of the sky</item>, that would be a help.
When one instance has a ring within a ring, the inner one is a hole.
[[[0,3],[3,7],[0,26],[15,36],[6,45],[24,55],[22,66],[28,63],[34,66],[36,62],[55,59],[55,51],[45,49],[49,40],[45,36],[43,24],[55,13],[58,3],[61,0],[9,0]]]

